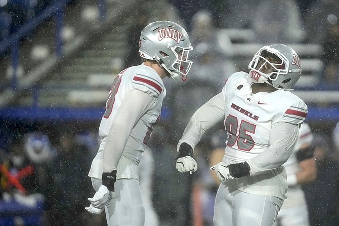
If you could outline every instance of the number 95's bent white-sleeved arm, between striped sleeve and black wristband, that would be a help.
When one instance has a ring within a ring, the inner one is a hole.
[[[250,174],[257,175],[284,164],[293,151],[298,132],[298,126],[289,123],[273,125],[270,136],[272,145],[255,158],[246,161],[250,166]]]

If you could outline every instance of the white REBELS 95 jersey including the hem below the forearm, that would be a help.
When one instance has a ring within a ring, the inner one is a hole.
[[[240,71],[232,74],[222,91],[228,134],[223,161],[228,164],[250,160],[268,149],[272,124],[300,125],[307,116],[306,104],[291,92],[276,90],[252,94],[251,84],[248,73]],[[225,183],[246,193],[282,199],[286,198],[288,189],[283,167]]]

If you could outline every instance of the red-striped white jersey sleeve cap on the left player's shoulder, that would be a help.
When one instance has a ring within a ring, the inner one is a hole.
[[[133,77],[132,86],[153,98],[158,98],[164,92],[162,80],[154,71],[138,70]]]

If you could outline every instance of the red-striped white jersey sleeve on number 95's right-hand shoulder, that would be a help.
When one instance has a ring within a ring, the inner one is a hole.
[[[307,105],[303,101],[297,101],[290,105],[285,111],[279,122],[301,125],[307,116]]]

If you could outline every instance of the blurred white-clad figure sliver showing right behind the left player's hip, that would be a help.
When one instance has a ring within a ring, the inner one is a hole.
[[[145,225],[159,226],[159,217],[153,206],[153,176],[154,176],[154,158],[153,150],[146,147],[140,161],[140,190],[142,201],[145,208]]]

